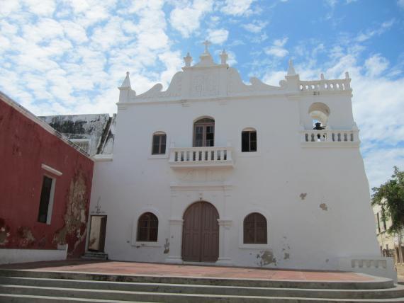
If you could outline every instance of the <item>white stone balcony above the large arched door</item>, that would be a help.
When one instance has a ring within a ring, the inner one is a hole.
[[[232,147],[171,147],[169,164],[181,167],[233,167]]]

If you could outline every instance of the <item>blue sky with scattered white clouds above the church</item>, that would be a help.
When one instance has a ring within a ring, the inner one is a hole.
[[[352,78],[371,186],[404,169],[404,0],[0,0],[0,90],[37,115],[114,113],[130,72],[167,87],[201,42],[242,79]]]

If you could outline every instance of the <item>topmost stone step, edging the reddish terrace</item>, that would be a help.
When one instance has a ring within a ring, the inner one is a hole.
[[[110,282],[145,282],[180,285],[217,285],[233,287],[271,287],[326,290],[380,290],[394,287],[393,280],[376,278],[366,282],[353,281],[305,281],[305,280],[258,280],[245,278],[195,278],[156,275],[114,275],[103,273],[74,273],[39,270],[0,269],[0,276],[22,278],[49,278],[67,280],[96,280]]]

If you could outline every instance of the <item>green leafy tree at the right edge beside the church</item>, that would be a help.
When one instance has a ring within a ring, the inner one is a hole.
[[[394,166],[394,173],[391,179],[372,188],[371,205],[381,206],[381,219],[391,218],[389,234],[398,234],[404,228],[404,171],[400,171]]]

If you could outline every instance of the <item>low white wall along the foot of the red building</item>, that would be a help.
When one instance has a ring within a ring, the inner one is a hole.
[[[66,260],[67,246],[60,249],[0,249],[0,264]]]

